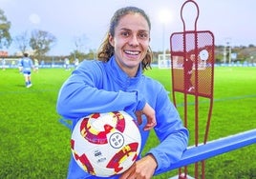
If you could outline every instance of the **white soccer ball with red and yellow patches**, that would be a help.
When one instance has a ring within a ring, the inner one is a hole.
[[[93,113],[79,119],[71,139],[77,165],[101,177],[129,169],[139,155],[140,145],[139,128],[124,111]]]

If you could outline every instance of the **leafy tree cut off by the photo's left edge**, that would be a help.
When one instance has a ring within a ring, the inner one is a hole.
[[[3,10],[0,10],[0,49],[9,48],[11,45],[11,22],[7,20]]]

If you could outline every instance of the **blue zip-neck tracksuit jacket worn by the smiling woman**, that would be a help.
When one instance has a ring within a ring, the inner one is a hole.
[[[84,61],[67,79],[59,91],[56,109],[65,118],[77,120],[93,112],[125,110],[130,115],[143,109],[148,103],[156,111],[157,126],[154,128],[160,144],[148,153],[158,162],[157,171],[166,169],[181,158],[187,147],[188,131],[182,126],[180,115],[170,102],[166,90],[160,82],[144,76],[141,68],[135,77],[122,71],[113,56],[108,62]],[[141,150],[148,139],[149,131],[144,131],[146,118],[139,126]],[[69,179],[99,178],[80,169],[73,157],[70,161]],[[118,178],[114,176],[112,178]]]

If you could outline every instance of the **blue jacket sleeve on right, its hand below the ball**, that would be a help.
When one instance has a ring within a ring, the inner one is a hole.
[[[183,151],[188,145],[188,130],[182,125],[181,117],[170,102],[165,89],[161,89],[156,105],[158,125],[155,128],[160,144],[149,153],[152,153],[157,162],[156,172],[167,169],[174,162],[181,159]]]

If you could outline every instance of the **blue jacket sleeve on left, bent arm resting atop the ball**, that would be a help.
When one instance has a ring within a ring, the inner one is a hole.
[[[83,62],[61,87],[56,110],[63,117],[76,119],[92,112],[126,110],[128,113],[145,104],[137,91],[107,90],[103,67]],[[103,87],[104,86],[104,87]]]

